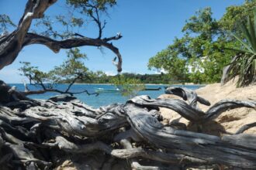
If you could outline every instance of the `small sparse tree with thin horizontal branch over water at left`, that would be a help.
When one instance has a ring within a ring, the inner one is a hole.
[[[24,94],[39,94],[46,92],[67,93],[74,95],[74,93],[88,93],[87,90],[80,92],[71,92],[71,87],[78,80],[83,80],[89,77],[88,68],[84,62],[86,55],[81,53],[78,48],[69,49],[67,51],[67,59],[61,64],[61,66],[55,66],[53,70],[49,72],[43,72],[38,70],[37,66],[31,66],[29,62],[21,62],[22,67],[19,68],[21,76],[26,76],[29,79],[29,83],[40,87],[40,90],[29,90],[26,87]],[[66,90],[58,90],[56,88],[57,83],[69,83]],[[88,93],[92,94],[92,93]]]

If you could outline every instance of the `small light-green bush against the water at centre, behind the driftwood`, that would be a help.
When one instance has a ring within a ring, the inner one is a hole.
[[[145,85],[140,80],[117,75],[112,78],[112,84],[116,86],[125,97],[135,97],[140,90],[145,89]]]

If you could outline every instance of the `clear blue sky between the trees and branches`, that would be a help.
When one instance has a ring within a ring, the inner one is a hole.
[[[64,13],[64,0],[48,8],[46,14]],[[122,32],[123,38],[114,41],[123,56],[123,72],[155,73],[147,70],[147,62],[161,49],[171,44],[172,40],[182,36],[182,26],[185,20],[195,14],[200,8],[211,7],[213,17],[220,19],[225,8],[230,5],[241,5],[244,0],[118,0],[116,7],[109,10],[106,29],[103,36],[114,36]],[[15,23],[19,22],[26,5],[26,0],[0,0],[0,14],[7,14]],[[79,29],[83,35],[95,37],[97,29],[90,25]],[[112,65],[115,56],[109,49],[102,53],[95,47],[82,47],[88,60],[85,65],[90,70],[102,70],[108,74],[116,74],[116,67]],[[45,46],[26,46],[19,53],[12,65],[0,70],[0,80],[6,83],[20,83],[19,61],[30,61],[40,70],[50,70],[61,64],[66,57],[65,50],[53,53]]]

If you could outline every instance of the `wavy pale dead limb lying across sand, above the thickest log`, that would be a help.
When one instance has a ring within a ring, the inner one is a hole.
[[[255,101],[240,101],[240,100],[220,100],[206,112],[199,110],[195,105],[192,107],[183,100],[178,99],[151,99],[149,96],[142,95],[134,97],[133,99],[128,100],[128,102],[136,104],[138,106],[144,107],[165,107],[171,110],[175,110],[182,117],[185,117],[187,120],[197,123],[206,123],[206,121],[213,120],[218,117],[224,111],[239,108],[255,108]]]

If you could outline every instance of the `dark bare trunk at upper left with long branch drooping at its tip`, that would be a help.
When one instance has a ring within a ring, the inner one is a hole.
[[[50,39],[46,36],[40,36],[35,33],[28,32],[33,19],[43,17],[43,12],[53,5],[57,0],[28,0],[22,18],[16,30],[8,35],[0,36],[0,70],[3,67],[12,64],[19,55],[24,46],[31,44],[42,44],[47,46],[54,53],[58,53],[60,49],[71,49],[78,46],[104,46],[116,54],[119,61],[117,63],[118,72],[122,71],[122,56],[119,49],[113,46],[110,41],[122,38],[119,34],[105,39],[91,39],[88,37],[77,37],[64,40]]]

